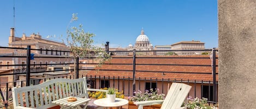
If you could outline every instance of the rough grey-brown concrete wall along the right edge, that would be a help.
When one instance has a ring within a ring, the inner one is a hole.
[[[256,1],[218,0],[219,108],[256,108]]]

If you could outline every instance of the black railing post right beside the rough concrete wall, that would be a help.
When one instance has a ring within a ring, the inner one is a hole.
[[[212,51],[212,73],[213,73],[213,104],[216,104],[216,49]]]

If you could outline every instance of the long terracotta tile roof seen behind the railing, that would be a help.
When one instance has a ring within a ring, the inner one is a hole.
[[[121,58],[124,57],[124,58]],[[159,58],[161,57],[161,58]],[[133,59],[131,56],[114,56],[98,72],[91,70],[88,75],[133,76]],[[118,63],[118,65],[115,65]],[[130,64],[130,65],[119,65]],[[175,55],[175,56],[136,56],[136,78],[182,79],[212,81],[212,67],[209,55]],[[141,65],[140,65],[141,64]],[[149,65],[155,64],[155,65]],[[165,64],[165,65],[157,65]],[[218,65],[218,59],[216,59]],[[145,72],[148,71],[148,72]],[[218,73],[218,67],[216,67]],[[218,74],[216,80],[218,81]]]

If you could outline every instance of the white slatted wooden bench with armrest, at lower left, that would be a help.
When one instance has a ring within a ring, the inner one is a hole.
[[[80,79],[52,79],[39,85],[12,88],[14,108],[50,108],[57,106],[53,103],[59,99],[68,97],[82,98],[78,105],[85,104],[86,108],[88,98],[87,91],[103,91],[103,89],[87,88],[86,78]],[[52,102],[53,101],[53,102]],[[71,107],[71,106],[70,106]]]

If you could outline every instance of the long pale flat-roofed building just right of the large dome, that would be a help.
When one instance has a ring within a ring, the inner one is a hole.
[[[181,41],[174,44],[171,44],[171,50],[204,50],[205,43],[200,41]],[[197,55],[203,52],[201,51],[182,51],[175,52],[178,55]]]

